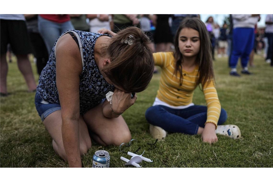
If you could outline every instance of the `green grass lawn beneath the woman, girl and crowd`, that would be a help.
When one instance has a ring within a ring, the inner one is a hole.
[[[138,94],[136,103],[123,117],[132,138],[137,139],[127,151],[141,154],[153,160],[143,161],[144,168],[152,167],[273,167],[273,80],[272,70],[260,55],[255,55],[250,68],[254,75],[240,78],[229,76],[227,58],[214,62],[216,89],[222,105],[228,113],[226,124],[236,124],[242,138],[233,140],[218,136],[212,145],[203,143],[200,136],[181,133],[168,134],[155,145],[149,134],[149,124],[144,113],[156,96],[159,74],[155,74],[149,87]],[[238,63],[239,65],[239,63]],[[239,66],[240,67],[240,66]],[[35,65],[32,63],[38,81]],[[239,68],[238,71],[241,71]],[[27,93],[24,79],[16,61],[9,63],[8,97],[1,97],[1,167],[68,167],[52,148],[52,139],[46,132],[34,105],[35,93]],[[206,105],[203,93],[197,88],[193,102]],[[92,166],[95,151],[104,149],[110,153],[110,167],[124,166],[120,157],[129,158],[118,151],[117,146],[101,146],[92,141],[92,148],[82,157],[84,167]]]

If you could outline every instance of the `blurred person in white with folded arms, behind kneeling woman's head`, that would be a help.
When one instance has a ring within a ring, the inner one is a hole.
[[[111,29],[112,16],[110,14],[87,14],[86,17],[89,19],[89,32],[97,33],[102,28]]]

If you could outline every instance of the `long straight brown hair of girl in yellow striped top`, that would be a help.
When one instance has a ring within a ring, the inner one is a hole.
[[[199,65],[198,74],[199,78],[197,78],[197,85],[200,83],[204,86],[205,83],[208,83],[211,80],[214,80],[214,73],[212,67],[212,55],[211,55],[211,43],[209,39],[209,34],[207,32],[205,24],[198,18],[185,18],[179,28],[176,31],[175,39],[174,39],[174,58],[176,60],[176,67],[174,70],[174,74],[177,75],[177,72],[180,73],[180,85],[183,83],[183,75],[182,75],[182,63],[183,56],[179,50],[178,42],[179,42],[179,33],[183,28],[192,28],[199,32],[200,36],[200,50],[196,57],[196,64]]]

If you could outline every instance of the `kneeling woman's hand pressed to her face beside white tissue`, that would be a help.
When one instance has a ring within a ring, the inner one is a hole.
[[[112,96],[111,108],[115,113],[123,113],[135,103],[136,99],[136,95],[131,99],[131,93],[126,93],[116,88]]]

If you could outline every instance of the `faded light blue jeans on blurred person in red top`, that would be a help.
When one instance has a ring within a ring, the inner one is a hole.
[[[74,29],[71,21],[64,23],[56,23],[38,16],[38,30],[43,37],[44,43],[46,44],[46,49],[48,50],[48,55],[51,54],[52,48],[59,38],[59,36],[67,31]]]

